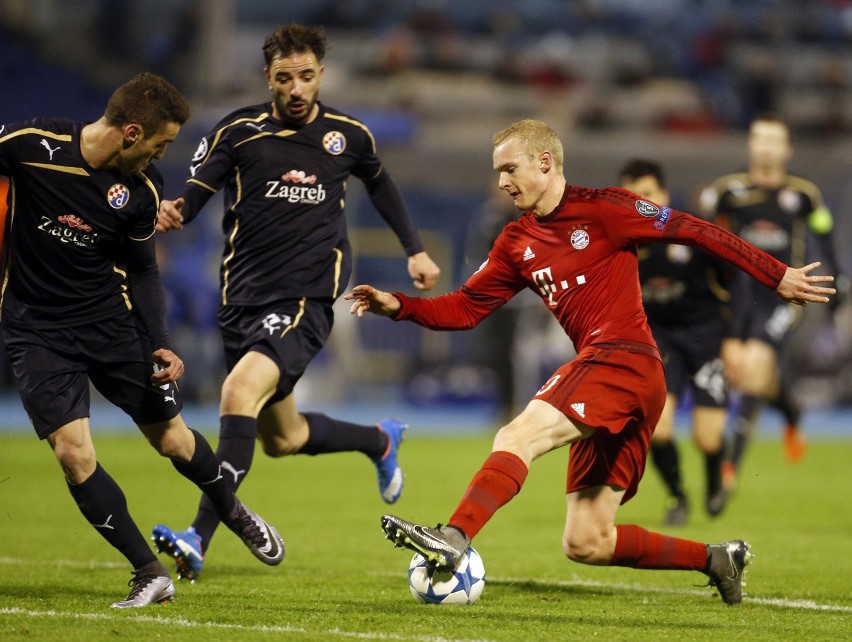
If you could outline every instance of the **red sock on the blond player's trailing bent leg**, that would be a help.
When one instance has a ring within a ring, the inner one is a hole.
[[[618,539],[610,566],[703,571],[707,547],[679,537],[652,533],[641,526],[617,524]]]

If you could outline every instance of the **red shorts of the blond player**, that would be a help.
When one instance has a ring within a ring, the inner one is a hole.
[[[636,494],[666,401],[663,364],[654,346],[630,341],[588,346],[533,398],[596,429],[571,445],[569,493],[616,486],[627,491],[622,504]]]

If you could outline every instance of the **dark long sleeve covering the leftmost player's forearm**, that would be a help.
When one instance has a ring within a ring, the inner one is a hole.
[[[127,283],[133,309],[142,320],[151,341],[151,349],[171,350],[171,339],[166,325],[166,300],[160,270],[157,267],[154,238],[128,241],[125,245]]]

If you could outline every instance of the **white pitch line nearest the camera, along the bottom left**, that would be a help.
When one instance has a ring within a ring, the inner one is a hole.
[[[106,622],[145,622],[148,624],[163,624],[169,627],[184,627],[187,629],[216,629],[224,631],[252,631],[257,633],[301,633],[304,635],[322,635],[323,637],[337,636],[343,638],[356,638],[359,640],[416,640],[417,642],[490,642],[485,639],[459,640],[459,638],[445,638],[441,636],[414,636],[397,635],[395,633],[373,633],[369,631],[343,631],[333,628],[322,630],[306,629],[300,626],[277,626],[277,625],[245,625],[224,624],[222,622],[196,622],[185,617],[161,617],[159,615],[131,615],[121,617],[111,613],[66,613],[62,611],[33,611],[19,608],[0,608],[0,616],[14,615],[18,617],[44,617],[60,620],[100,620]]]

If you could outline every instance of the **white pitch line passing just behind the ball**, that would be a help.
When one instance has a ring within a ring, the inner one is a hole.
[[[72,568],[127,568],[127,564],[123,562],[97,562],[94,560],[33,560],[21,559],[17,557],[0,557],[0,565],[44,565],[44,566],[68,566]],[[396,573],[371,573],[371,575],[379,577],[396,577]],[[488,580],[495,584],[532,584],[534,586],[584,586],[588,588],[599,588],[603,590],[618,590],[628,591],[631,593],[664,593],[671,595],[696,595],[709,596],[711,589],[678,589],[662,586],[647,586],[636,582],[601,582],[598,580],[587,580],[576,575],[570,580],[540,580],[524,577],[493,577],[489,576]],[[748,590],[744,591],[744,602],[748,604],[760,604],[763,606],[774,606],[784,609],[801,609],[805,611],[827,611],[834,613],[852,613],[852,606],[842,604],[820,604],[813,600],[789,599],[782,597],[752,597],[748,595]],[[2,613],[2,611],[0,611]],[[343,633],[340,633],[343,635]],[[439,640],[439,638],[423,638],[424,640]]]

